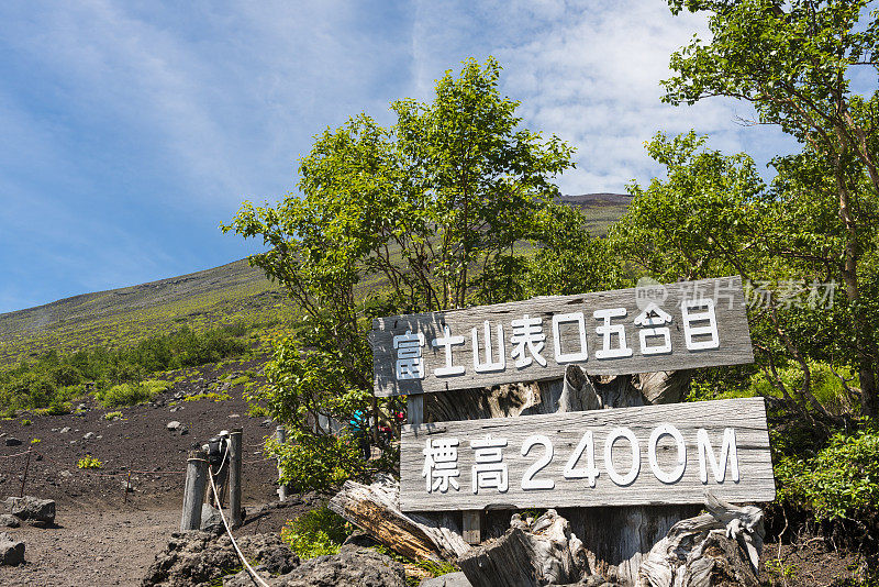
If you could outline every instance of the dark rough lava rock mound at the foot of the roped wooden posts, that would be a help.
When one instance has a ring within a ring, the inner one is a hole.
[[[278,534],[242,536],[237,543],[252,565],[266,565],[268,572],[289,572],[299,564],[299,557],[281,542]],[[229,535],[175,533],[168,546],[156,555],[141,585],[207,587],[216,585],[218,579],[241,566]]]

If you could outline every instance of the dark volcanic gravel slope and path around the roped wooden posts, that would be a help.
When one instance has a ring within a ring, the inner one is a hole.
[[[90,401],[88,409],[77,414],[29,413],[0,420],[0,499],[21,491],[26,455],[20,453],[32,439],[38,439],[33,444],[24,492],[57,503],[55,528],[25,524],[0,529],[23,540],[26,549],[24,565],[0,567],[0,585],[138,584],[170,533],[179,528],[188,451],[224,429],[243,429],[242,501],[251,521],[236,533],[277,532],[286,520],[313,507],[314,496],[294,498],[290,507],[253,516],[257,507],[277,500],[277,468],[262,450],[264,439],[275,432],[275,423],[247,416],[242,386],[221,391],[232,397],[224,401],[175,400],[175,396],[214,391],[205,386],[224,372],[260,368],[260,362],[224,369],[201,367],[149,405],[108,410]],[[121,411],[122,419],[104,419],[112,411]],[[31,423],[23,425],[25,420]],[[180,422],[187,433],[169,431],[171,421]],[[62,432],[65,428],[69,430]],[[7,446],[9,438],[22,444]],[[102,462],[103,467],[77,468],[86,455]],[[132,490],[126,495],[129,483]]]

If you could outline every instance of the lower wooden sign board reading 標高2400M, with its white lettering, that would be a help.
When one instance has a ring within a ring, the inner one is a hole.
[[[761,398],[403,427],[403,511],[776,496]]]

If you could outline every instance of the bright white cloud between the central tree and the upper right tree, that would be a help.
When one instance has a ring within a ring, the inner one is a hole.
[[[727,151],[754,151],[758,158],[772,147],[790,148],[776,130],[743,129],[737,114],[747,104],[708,100],[694,107],[661,103],[659,80],[670,77],[672,51],[698,33],[709,36],[704,20],[672,16],[663,1],[628,2],[498,2],[470,12],[468,25],[447,26],[449,12],[433,3],[418,12],[415,53],[420,87],[445,64],[468,55],[493,54],[504,66],[504,91],[522,100],[525,124],[557,134],[577,147],[577,169],[560,178],[567,193],[621,191],[637,178],[646,182],[661,169],[643,144],[657,131],[669,134],[697,129],[711,134],[711,145]],[[481,37],[472,30],[483,27]],[[770,143],[767,145],[766,143]]]

